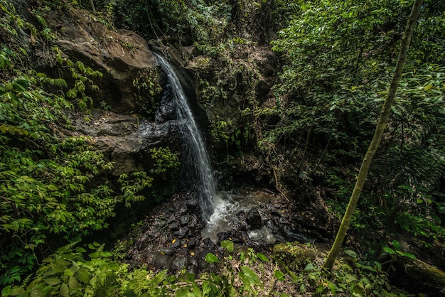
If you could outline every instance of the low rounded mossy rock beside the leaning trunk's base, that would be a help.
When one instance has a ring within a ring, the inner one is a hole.
[[[291,270],[304,269],[304,267],[316,259],[316,254],[310,247],[299,243],[283,243],[274,246],[275,259],[283,262]]]

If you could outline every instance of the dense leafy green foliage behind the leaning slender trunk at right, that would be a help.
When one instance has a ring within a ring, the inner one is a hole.
[[[280,121],[264,134],[263,142],[286,153],[289,148],[280,144],[299,146],[294,139],[304,137],[304,151],[310,144],[311,151],[323,151],[321,164],[332,172],[326,182],[336,188],[337,207],[351,190],[347,180],[353,175],[345,174],[344,168],[358,166],[372,136],[410,5],[410,1],[301,2],[301,13],[273,42],[286,63],[282,83],[276,86],[280,104],[272,111]],[[368,196],[355,227],[398,225],[430,239],[444,237],[439,217],[444,214],[444,200],[437,187],[445,165],[444,31],[436,28],[444,28],[445,18],[443,10],[427,9],[432,5],[425,6],[414,33],[389,129],[371,168]],[[299,173],[294,178],[319,178],[323,174],[319,164],[306,162],[302,171],[293,166]],[[282,174],[289,174],[289,169]]]

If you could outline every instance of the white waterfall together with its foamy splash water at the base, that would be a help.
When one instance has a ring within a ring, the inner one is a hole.
[[[203,136],[200,134],[198,124],[193,117],[193,112],[189,106],[186,94],[181,86],[176,73],[171,65],[160,55],[156,55],[161,68],[168,76],[174,104],[177,109],[178,121],[181,123],[181,131],[186,144],[185,158],[188,170],[193,174],[188,176],[188,180],[195,184],[198,192],[198,203],[203,210],[205,227],[201,230],[203,238],[218,241],[217,234],[227,231],[233,225],[240,224],[240,213],[248,212],[252,207],[256,207],[265,202],[261,195],[234,194],[230,192],[216,192],[216,181],[210,167],[208,153],[205,149]],[[241,219],[243,220],[243,219]],[[272,243],[277,237],[270,229],[263,226],[261,229],[249,232],[251,239],[262,239]]]

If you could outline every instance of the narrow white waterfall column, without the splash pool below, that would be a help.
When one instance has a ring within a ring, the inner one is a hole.
[[[181,123],[183,140],[186,144],[185,153],[188,154],[186,157],[183,156],[182,160],[188,162],[188,166],[193,171],[193,176],[190,178],[195,183],[196,190],[198,190],[198,202],[203,210],[203,217],[205,220],[209,220],[214,208],[213,200],[216,195],[216,181],[210,167],[208,153],[205,150],[205,142],[188,105],[183,87],[171,65],[160,55],[156,53],[154,55],[168,76],[168,82],[171,85],[174,97],[173,100],[177,108],[178,121]]]

